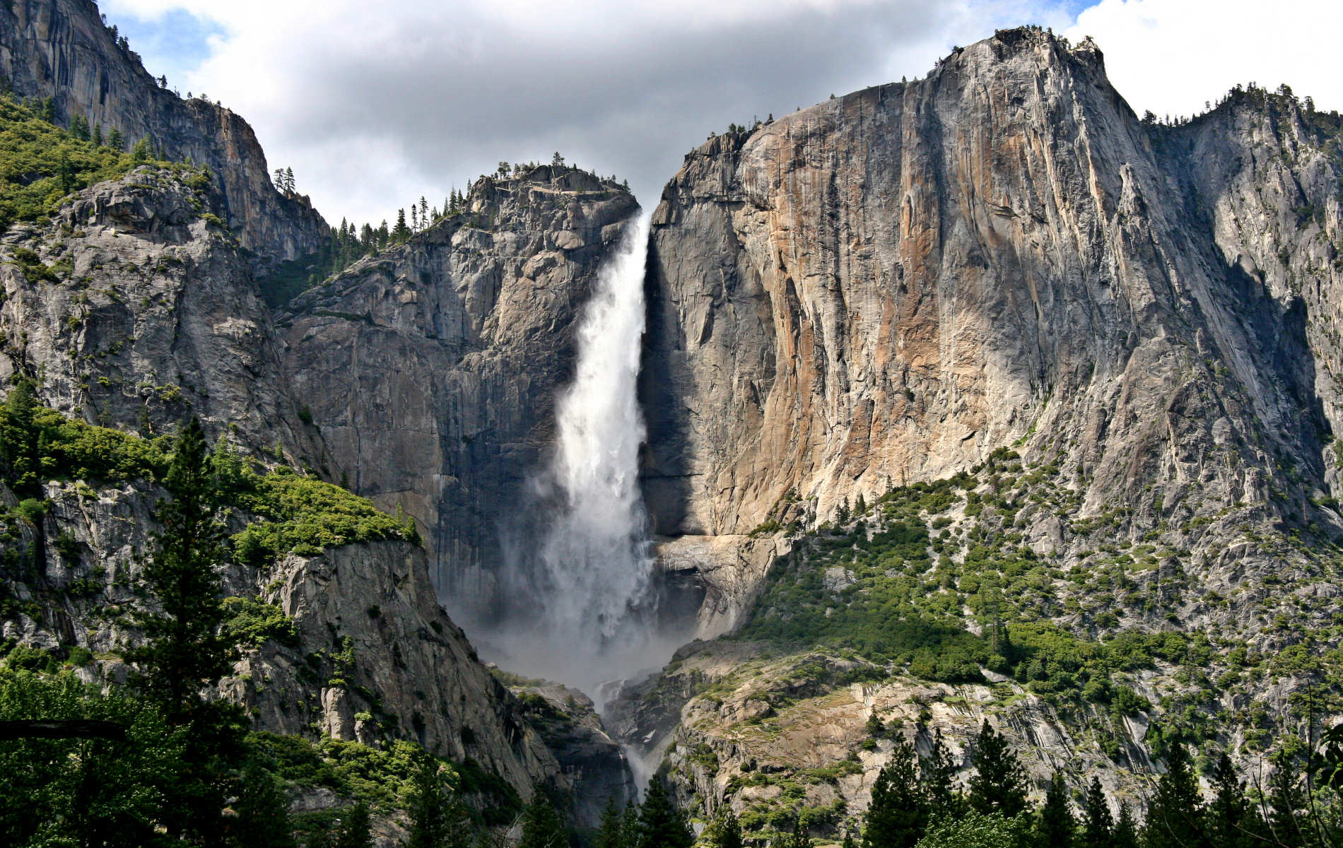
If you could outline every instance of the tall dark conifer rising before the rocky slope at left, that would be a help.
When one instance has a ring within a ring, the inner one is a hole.
[[[224,525],[205,435],[195,417],[177,436],[164,488],[169,498],[156,509],[161,530],[152,537],[144,570],[161,612],[137,616],[146,641],[125,657],[140,668],[137,686],[164,706],[171,722],[185,723],[200,707],[201,687],[219,680],[234,657],[220,632]]]

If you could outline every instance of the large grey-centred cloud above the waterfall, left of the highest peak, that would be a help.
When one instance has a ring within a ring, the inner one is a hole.
[[[105,0],[214,27],[169,82],[246,117],[328,219],[442,203],[500,160],[556,150],[657,201],[682,154],[729,122],[923,75],[998,25],[1065,0]],[[140,50],[140,46],[136,44]],[[142,50],[156,68],[156,56]],[[157,70],[156,70],[157,72]]]

